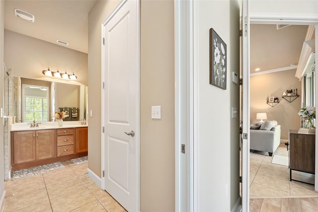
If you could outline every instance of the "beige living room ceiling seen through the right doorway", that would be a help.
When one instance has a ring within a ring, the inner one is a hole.
[[[307,25],[277,29],[276,24],[250,25],[250,72],[270,71],[298,65]],[[314,37],[314,36],[313,36]]]

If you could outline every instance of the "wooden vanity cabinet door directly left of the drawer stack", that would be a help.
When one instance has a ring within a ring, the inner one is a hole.
[[[36,131],[36,159],[55,157],[54,129]]]

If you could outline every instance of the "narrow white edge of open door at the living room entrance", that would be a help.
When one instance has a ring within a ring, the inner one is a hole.
[[[249,211],[249,7],[248,0],[242,6],[242,137],[241,176],[242,211]]]

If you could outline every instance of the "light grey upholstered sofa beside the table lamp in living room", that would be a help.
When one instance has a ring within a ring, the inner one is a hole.
[[[250,149],[268,152],[269,156],[280,144],[280,125],[277,121],[265,121],[250,127]]]

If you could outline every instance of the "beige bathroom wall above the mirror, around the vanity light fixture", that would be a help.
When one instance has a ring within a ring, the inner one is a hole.
[[[13,76],[87,86],[87,54],[63,46],[4,30],[4,63]],[[42,70],[73,72],[76,81],[54,80]]]

